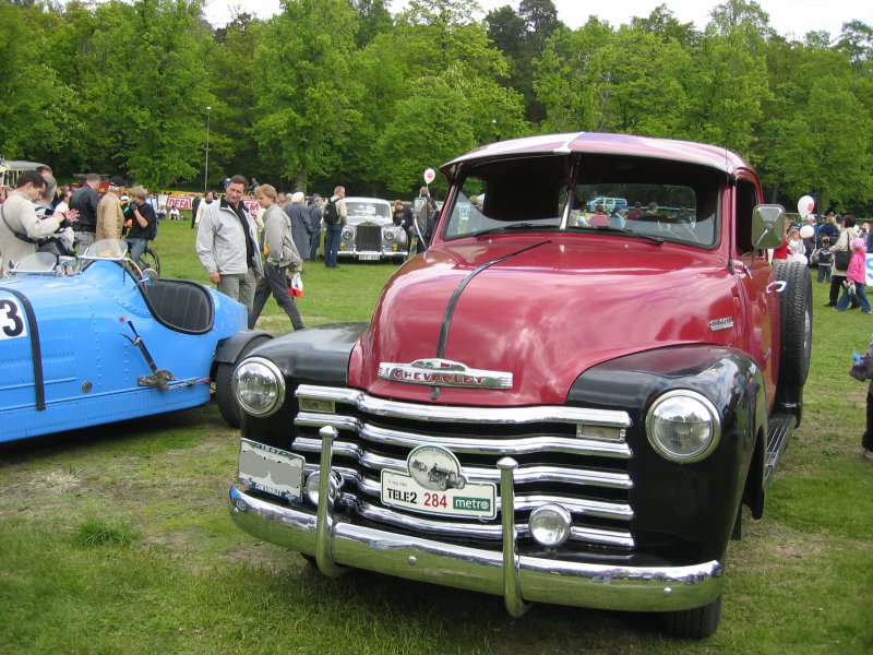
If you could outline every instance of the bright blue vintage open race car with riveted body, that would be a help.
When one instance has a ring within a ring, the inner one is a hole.
[[[143,274],[124,241],[24,258],[0,281],[0,442],[203,405],[231,425],[237,359],[267,341],[201,284]]]

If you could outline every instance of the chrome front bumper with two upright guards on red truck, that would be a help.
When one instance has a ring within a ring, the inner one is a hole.
[[[500,495],[503,551],[447,545],[335,521],[330,500],[332,440],[324,439],[315,514],[266,502],[230,487],[234,522],[247,533],[311,555],[337,576],[347,568],[503,596],[512,616],[529,602],[630,611],[675,611],[713,602],[723,585],[719,561],[687,567],[613,567],[527,557],[516,549],[513,512],[515,462],[504,458]]]

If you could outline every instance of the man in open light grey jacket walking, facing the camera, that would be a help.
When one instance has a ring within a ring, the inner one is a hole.
[[[195,248],[210,282],[251,312],[263,266],[254,221],[242,202],[247,187],[246,178],[235,175],[225,196],[205,207]]]

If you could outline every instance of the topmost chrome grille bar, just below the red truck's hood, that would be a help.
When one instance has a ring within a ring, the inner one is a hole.
[[[301,384],[295,395],[300,397],[333,401],[354,405],[360,412],[415,420],[443,422],[517,425],[526,422],[586,422],[607,427],[630,428],[631,417],[626,412],[586,409],[583,407],[535,406],[535,407],[476,407],[420,405],[385,401],[362,391],[339,386],[315,386]]]

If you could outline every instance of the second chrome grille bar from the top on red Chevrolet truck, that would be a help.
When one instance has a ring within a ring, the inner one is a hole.
[[[531,453],[571,453],[600,457],[629,460],[633,453],[623,442],[601,441],[598,439],[572,438],[560,436],[521,437],[517,439],[483,439],[465,437],[433,437],[416,434],[400,430],[385,430],[359,421],[350,416],[300,412],[294,424],[301,427],[321,428],[332,426],[337,430],[358,433],[362,439],[373,443],[398,445],[412,449],[424,443],[435,443],[455,453],[502,454],[511,452],[515,455]]]

